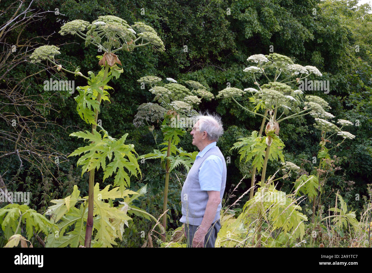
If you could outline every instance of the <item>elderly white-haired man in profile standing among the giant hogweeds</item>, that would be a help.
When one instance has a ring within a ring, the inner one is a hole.
[[[214,247],[226,184],[225,158],[216,146],[223,129],[218,116],[200,115],[196,120],[190,134],[200,152],[182,187],[180,222],[185,223],[187,247]]]

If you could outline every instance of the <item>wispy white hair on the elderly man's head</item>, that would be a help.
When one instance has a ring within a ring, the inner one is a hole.
[[[206,131],[209,140],[215,140],[224,133],[222,128],[221,117],[217,114],[209,114],[206,112],[204,115],[199,112],[199,115],[195,117],[196,121],[199,121],[199,131]]]

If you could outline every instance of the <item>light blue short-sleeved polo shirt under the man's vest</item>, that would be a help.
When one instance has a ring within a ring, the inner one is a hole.
[[[198,153],[196,158],[203,157],[209,149],[216,146],[216,142],[208,144]],[[210,155],[199,167],[199,183],[202,191],[221,191],[222,172],[224,165],[219,156]]]

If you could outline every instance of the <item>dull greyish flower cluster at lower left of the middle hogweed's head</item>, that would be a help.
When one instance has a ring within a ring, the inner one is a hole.
[[[136,127],[147,125],[146,121],[154,123],[164,118],[166,110],[156,103],[142,103],[134,117],[133,124]]]

